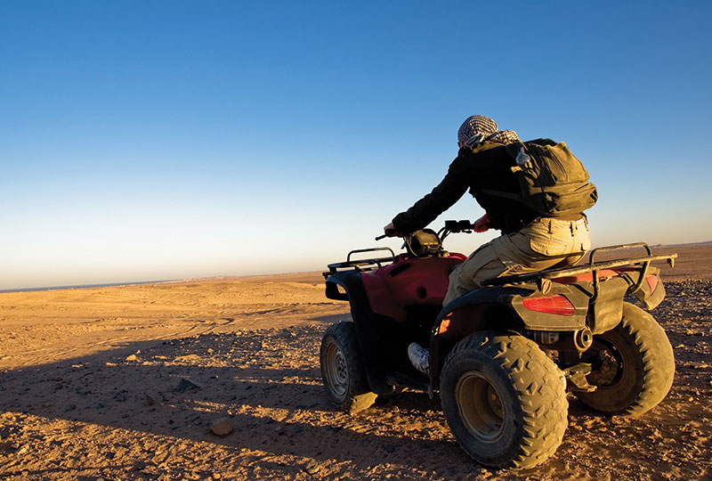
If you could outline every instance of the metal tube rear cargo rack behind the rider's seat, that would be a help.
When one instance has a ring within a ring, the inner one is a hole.
[[[599,252],[619,250],[619,249],[634,249],[634,248],[644,248],[648,255],[645,257],[628,257],[623,259],[615,259],[611,261],[594,262],[595,255]],[[495,279],[490,279],[488,281],[482,281],[483,286],[501,286],[503,284],[520,284],[524,282],[536,281],[539,289],[543,289],[543,285],[547,284],[548,281],[557,279],[560,277],[575,276],[584,273],[593,273],[593,283],[594,291],[598,291],[599,271],[603,269],[612,269],[615,267],[622,267],[625,265],[640,265],[640,277],[638,278],[635,289],[639,289],[643,285],[645,276],[648,273],[648,267],[653,261],[667,261],[670,267],[675,265],[675,259],[677,254],[668,254],[664,256],[653,256],[651,248],[645,242],[635,242],[633,244],[622,244],[619,246],[610,246],[594,249],[591,251],[591,257],[587,265],[579,265],[574,267],[560,267],[558,269],[550,269],[545,271],[538,271],[536,273],[524,273],[518,275],[508,275],[504,277],[497,277]],[[635,290],[633,289],[633,290]]]

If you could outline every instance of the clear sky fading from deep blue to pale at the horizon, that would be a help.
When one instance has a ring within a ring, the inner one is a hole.
[[[712,240],[710,32],[708,1],[0,1],[0,289],[397,248],[473,114],[570,146],[595,245]]]

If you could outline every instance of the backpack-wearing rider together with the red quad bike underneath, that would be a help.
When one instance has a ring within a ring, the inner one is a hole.
[[[441,183],[384,228],[404,238],[406,254],[352,251],[329,265],[327,296],[348,300],[353,322],[327,331],[322,374],[331,399],[351,412],[396,387],[439,390],[466,452],[526,469],[561,443],[567,388],[603,412],[645,412],[667,394],[667,337],[623,301],[635,294],[657,306],[665,291],[650,263],[663,257],[640,244],[645,257],[595,263],[597,249],[573,267],[591,246],[583,212],[597,193],[564,143],[522,143],[473,116],[457,144]],[[467,190],[485,216],[422,230]],[[450,232],[490,228],[502,235],[470,257],[442,249]]]

